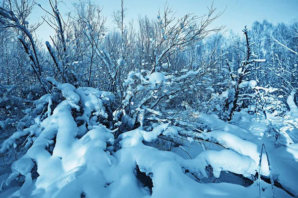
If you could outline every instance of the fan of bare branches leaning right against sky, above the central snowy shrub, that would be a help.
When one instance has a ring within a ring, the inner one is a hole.
[[[182,18],[178,18],[176,22],[174,13],[168,5],[164,6],[163,15],[161,15],[160,11],[158,12],[158,30],[151,40],[154,62],[150,73],[155,72],[156,66],[173,53],[190,50],[192,44],[198,43],[211,33],[218,32],[224,28],[224,26],[221,26],[207,29],[222,14],[220,12],[213,16],[216,11],[213,4],[208,9],[209,13],[204,16],[198,17],[188,13]]]

